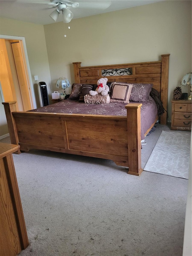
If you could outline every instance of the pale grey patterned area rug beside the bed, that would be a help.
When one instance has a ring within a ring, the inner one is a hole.
[[[145,171],[188,179],[190,132],[162,131]]]

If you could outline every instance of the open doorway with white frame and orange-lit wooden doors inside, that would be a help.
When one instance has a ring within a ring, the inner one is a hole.
[[[0,46],[3,100],[16,101],[18,111],[36,108],[25,38],[0,35]]]

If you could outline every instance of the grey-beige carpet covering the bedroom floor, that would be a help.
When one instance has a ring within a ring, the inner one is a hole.
[[[166,128],[146,137],[143,167]],[[182,256],[187,179],[44,150],[13,161],[30,243],[19,256]]]

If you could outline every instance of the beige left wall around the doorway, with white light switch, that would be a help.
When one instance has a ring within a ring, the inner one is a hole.
[[[51,77],[49,62],[46,50],[44,26],[16,20],[0,19],[0,34],[25,37],[29,65],[32,76],[32,86],[35,91],[37,106],[42,106],[41,93],[38,82],[44,81],[48,87],[48,94],[51,95]],[[38,75],[39,80],[35,81],[34,75]],[[2,100],[0,98],[0,104]],[[1,104],[2,105],[2,104]],[[3,106],[3,105],[2,105]],[[0,107],[0,136],[8,133],[7,122],[4,109]]]

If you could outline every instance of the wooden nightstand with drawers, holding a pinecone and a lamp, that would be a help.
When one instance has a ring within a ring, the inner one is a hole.
[[[171,129],[191,131],[191,100],[172,100]]]

